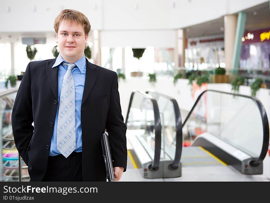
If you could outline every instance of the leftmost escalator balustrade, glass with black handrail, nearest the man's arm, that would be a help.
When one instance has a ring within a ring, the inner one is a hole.
[[[127,134],[136,136],[153,160],[149,169],[157,170],[160,163],[161,126],[156,100],[144,92],[132,92],[125,124]]]

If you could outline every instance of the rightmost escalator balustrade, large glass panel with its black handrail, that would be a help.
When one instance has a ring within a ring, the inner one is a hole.
[[[254,158],[264,159],[269,143],[269,126],[265,109],[254,97],[206,90],[196,100],[183,122],[184,139],[194,139],[204,132]]]

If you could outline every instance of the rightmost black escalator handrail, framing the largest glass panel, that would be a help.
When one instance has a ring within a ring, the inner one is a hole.
[[[260,102],[260,100],[258,100],[257,98],[255,98],[253,96],[235,94],[235,93],[230,93],[230,92],[222,92],[222,91],[218,91],[218,90],[210,90],[210,89],[205,90],[205,91],[203,91],[198,96],[197,100],[195,101],[193,107],[189,111],[189,113],[187,115],[187,118],[183,122],[183,125],[182,126],[185,125],[185,123],[187,122],[188,118],[190,117],[192,111],[194,110],[194,108],[196,107],[197,103],[199,102],[200,98],[207,91],[208,92],[218,92],[218,93],[222,93],[222,94],[229,94],[229,95],[233,95],[233,96],[246,97],[246,98],[249,98],[249,99],[253,100],[257,104],[257,106],[259,108],[259,111],[260,111],[261,118],[262,118],[262,124],[263,124],[263,145],[262,145],[262,149],[261,149],[261,152],[260,152],[260,156],[256,160],[252,161],[250,163],[250,165],[252,165],[252,166],[259,165],[264,160],[264,158],[265,158],[265,156],[267,154],[267,151],[268,151],[268,145],[269,145],[269,124],[268,124],[268,118],[267,118],[267,115],[266,115],[266,111],[264,109],[264,106],[262,105],[262,103]]]

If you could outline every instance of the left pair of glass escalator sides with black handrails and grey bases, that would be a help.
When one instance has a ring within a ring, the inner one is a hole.
[[[181,176],[182,123],[176,100],[134,91],[125,123],[144,178]]]

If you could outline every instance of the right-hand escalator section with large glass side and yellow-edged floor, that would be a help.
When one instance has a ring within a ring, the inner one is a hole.
[[[206,90],[183,122],[183,166],[232,166],[262,174],[269,143],[265,109],[254,97]],[[183,158],[185,157],[185,158]]]

